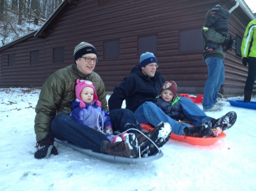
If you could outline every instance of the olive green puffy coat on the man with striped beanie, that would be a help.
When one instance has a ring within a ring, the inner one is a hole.
[[[44,82],[36,107],[34,119],[34,132],[37,141],[41,141],[51,132],[51,123],[59,113],[71,113],[72,102],[76,98],[76,80],[91,81],[101,102],[102,109],[108,111],[105,86],[100,76],[92,71],[90,75],[84,75],[76,65],[70,65],[57,70]]]

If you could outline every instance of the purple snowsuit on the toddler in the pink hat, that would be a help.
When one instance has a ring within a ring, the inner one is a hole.
[[[70,116],[72,116],[78,123],[87,125],[92,129],[97,126],[97,131],[105,134],[109,141],[112,142],[114,135],[107,135],[103,132],[103,130],[108,125],[112,128],[109,113],[104,111],[101,107],[96,106],[96,101],[94,101],[91,105],[85,103],[85,108],[80,108],[79,103],[79,99],[73,101],[71,106],[72,112],[70,113]]]

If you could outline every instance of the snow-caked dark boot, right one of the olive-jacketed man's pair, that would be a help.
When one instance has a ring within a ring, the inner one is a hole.
[[[170,134],[171,126],[167,122],[160,122],[153,131],[148,131],[145,133],[145,135],[149,137],[151,141],[153,141],[158,147],[162,147],[168,142]],[[158,148],[144,135],[139,134],[137,139],[142,157],[152,156],[158,151]]]

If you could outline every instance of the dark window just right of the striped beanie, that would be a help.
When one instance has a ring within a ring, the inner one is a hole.
[[[104,42],[104,59],[119,58],[120,42],[119,40]]]

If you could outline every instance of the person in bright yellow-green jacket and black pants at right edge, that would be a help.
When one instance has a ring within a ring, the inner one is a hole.
[[[248,75],[245,91],[243,92],[245,95],[243,102],[250,102],[256,78],[256,19],[249,22],[246,27],[241,45],[241,53],[242,64],[247,66],[248,63]]]

